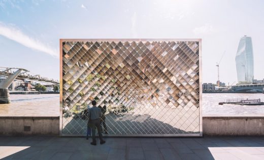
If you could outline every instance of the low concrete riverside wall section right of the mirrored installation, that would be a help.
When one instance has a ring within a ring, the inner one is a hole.
[[[203,116],[203,136],[264,136],[264,116]]]

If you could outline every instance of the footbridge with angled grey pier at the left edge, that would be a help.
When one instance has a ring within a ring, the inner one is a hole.
[[[37,82],[46,82],[52,83],[54,85],[59,85],[58,81],[54,79],[49,79],[45,77],[41,77],[40,75],[32,75],[29,74],[29,71],[23,68],[9,68],[9,67],[0,67],[0,75],[7,76],[6,79],[0,81],[0,104],[1,103],[10,103],[10,95],[8,87],[12,84],[12,82],[16,78],[28,79],[29,81],[37,81]]]

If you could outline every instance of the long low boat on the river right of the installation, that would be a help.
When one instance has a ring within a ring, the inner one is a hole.
[[[219,105],[223,104],[238,104],[238,105],[264,105],[260,99],[226,99],[224,102],[219,102]]]

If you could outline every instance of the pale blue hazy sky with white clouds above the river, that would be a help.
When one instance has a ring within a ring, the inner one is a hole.
[[[236,52],[252,37],[264,78],[264,1],[0,0],[0,67],[59,79],[59,38],[202,38],[202,81],[237,82]]]

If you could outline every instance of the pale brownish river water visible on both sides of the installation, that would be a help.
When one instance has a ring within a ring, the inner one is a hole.
[[[10,104],[0,104],[0,116],[58,116],[59,94],[10,95]],[[203,115],[264,115],[264,105],[218,105],[225,99],[261,99],[264,94],[205,93],[202,99]]]

